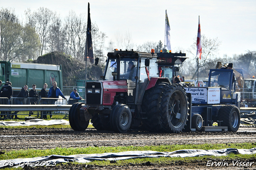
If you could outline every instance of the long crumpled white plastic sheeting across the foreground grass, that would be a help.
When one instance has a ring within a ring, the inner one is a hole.
[[[227,156],[228,154],[256,154],[256,148],[236,149],[225,148],[219,150],[187,149],[173,152],[156,152],[151,150],[126,151],[118,153],[103,154],[77,154],[69,156],[50,155],[35,158],[17,158],[11,160],[0,160],[0,168],[4,167],[24,167],[26,166],[55,166],[60,162],[92,162],[94,160],[125,160],[131,158],[158,158],[158,157],[195,157],[195,156]]]

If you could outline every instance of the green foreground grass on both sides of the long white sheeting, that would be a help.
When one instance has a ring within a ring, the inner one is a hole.
[[[158,152],[172,152],[175,150],[182,149],[223,149],[223,148],[238,148],[238,149],[250,149],[256,147],[256,143],[230,143],[230,144],[174,144],[174,145],[161,145],[161,146],[118,146],[118,147],[86,147],[86,148],[54,148],[46,150],[12,150],[0,154],[1,160],[16,159],[16,158],[33,158],[38,156],[47,156],[52,154],[57,155],[73,155],[73,154],[96,154],[96,153],[106,153],[106,152],[124,152],[124,151],[135,151],[135,150],[154,150]],[[170,163],[172,161],[188,161],[188,160],[203,160],[205,158],[218,158],[218,159],[248,159],[255,158],[256,154],[242,155],[242,154],[229,154],[228,156],[200,156],[200,157],[186,157],[186,158],[142,158],[142,159],[130,159],[130,160],[118,160],[116,165],[124,164],[136,164],[141,162],[150,161],[152,163]],[[90,164],[97,165],[112,165],[109,161],[94,161]]]

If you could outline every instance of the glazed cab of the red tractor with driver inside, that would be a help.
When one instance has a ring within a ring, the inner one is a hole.
[[[143,93],[150,77],[158,77],[156,54],[138,51],[114,51],[108,53],[104,81],[125,81],[127,100],[125,104],[142,102]],[[114,87],[114,86],[113,86]],[[118,86],[116,86],[118,88]],[[140,90],[138,90],[140,89]],[[105,93],[105,91],[103,92]],[[126,95],[126,94],[124,94]],[[116,97],[115,101],[124,101]]]

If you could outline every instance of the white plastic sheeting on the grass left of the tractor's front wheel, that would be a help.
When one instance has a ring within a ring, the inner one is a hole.
[[[69,125],[69,121],[66,120],[50,120],[45,121],[43,119],[30,119],[28,121],[0,121],[0,126],[31,126],[31,125]]]

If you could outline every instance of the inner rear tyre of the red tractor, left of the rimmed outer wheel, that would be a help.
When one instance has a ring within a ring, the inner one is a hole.
[[[145,91],[142,99],[142,127],[150,132],[162,130],[160,121],[160,102],[164,89],[169,83],[158,83]]]

